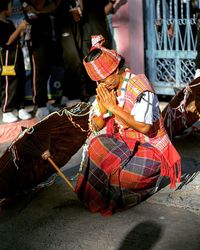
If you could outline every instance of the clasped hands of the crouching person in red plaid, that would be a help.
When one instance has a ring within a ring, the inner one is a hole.
[[[101,83],[98,85],[96,92],[97,92],[96,98],[101,113],[104,114],[107,111],[114,113],[115,107],[117,105],[117,98],[114,90],[109,91],[106,88],[106,86],[103,83]]]

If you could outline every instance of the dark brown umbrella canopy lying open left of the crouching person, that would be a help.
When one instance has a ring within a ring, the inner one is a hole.
[[[86,103],[63,108],[20,133],[0,158],[0,198],[36,187],[54,174],[42,158],[46,152],[63,167],[87,138],[89,110]]]

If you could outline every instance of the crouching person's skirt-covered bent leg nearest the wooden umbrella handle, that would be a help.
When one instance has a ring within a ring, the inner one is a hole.
[[[119,174],[130,156],[128,146],[113,137],[100,135],[91,140],[76,185],[79,199],[91,212],[111,215],[123,207]]]

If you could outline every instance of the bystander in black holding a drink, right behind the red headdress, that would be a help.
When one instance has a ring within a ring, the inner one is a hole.
[[[91,35],[104,34],[109,46],[106,14],[114,1],[108,0],[62,0],[56,15],[60,41],[62,44],[65,71],[63,96],[69,100],[86,101],[95,92],[93,84],[82,65],[82,60],[90,50]],[[68,102],[68,104],[70,101]]]

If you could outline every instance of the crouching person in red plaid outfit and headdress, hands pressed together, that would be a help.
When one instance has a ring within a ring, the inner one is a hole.
[[[146,76],[132,74],[116,51],[99,42],[84,66],[98,84],[90,128],[107,130],[90,141],[76,193],[90,211],[111,215],[147,198],[160,174],[174,187],[181,163]]]

